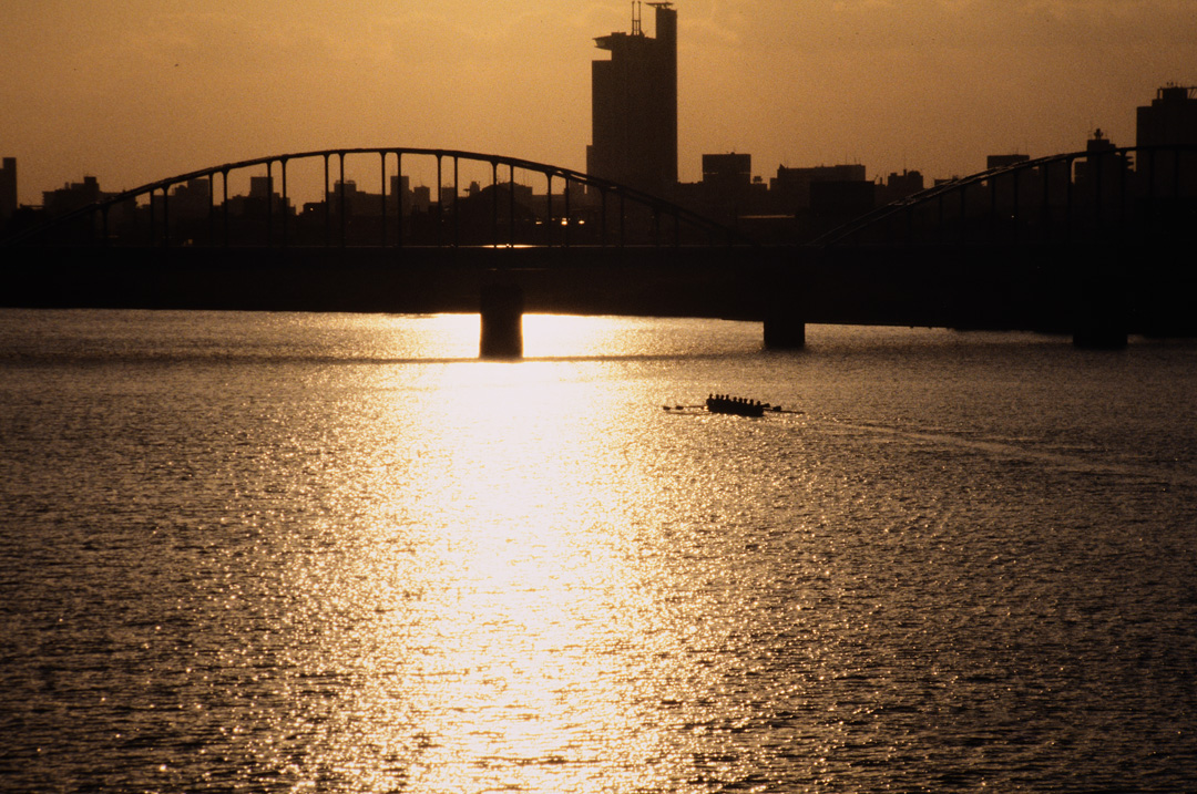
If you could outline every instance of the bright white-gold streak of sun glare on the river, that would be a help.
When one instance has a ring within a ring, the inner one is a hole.
[[[554,355],[585,355],[578,344],[594,336],[553,318],[529,325],[529,348]],[[610,444],[627,438],[613,427],[625,407],[588,366],[432,364],[361,384],[370,458],[336,487],[364,513],[336,530],[353,535],[336,542],[354,570],[327,593],[358,623],[326,646],[358,678],[342,704],[356,717],[339,722],[326,761],[356,769],[363,788],[625,790],[651,778],[661,726],[644,703],[663,696],[644,691],[643,672],[660,676],[675,651],[636,551],[634,517],[652,494],[634,446]],[[364,763],[378,755],[393,774]]]

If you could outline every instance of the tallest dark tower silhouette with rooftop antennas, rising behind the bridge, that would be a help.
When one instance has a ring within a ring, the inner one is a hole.
[[[591,65],[593,136],[587,171],[654,195],[678,184],[678,12],[656,11],[656,37],[644,35],[642,4],[632,32],[595,39],[610,60]]]

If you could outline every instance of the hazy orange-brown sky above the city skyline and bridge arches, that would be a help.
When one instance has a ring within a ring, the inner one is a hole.
[[[704,152],[870,177],[1132,145],[1197,85],[1197,0],[678,0],[680,171]],[[651,35],[651,13],[645,8]],[[594,37],[626,0],[2,0],[0,154],[20,201],[351,146],[582,170]],[[370,185],[367,185],[370,187]]]

